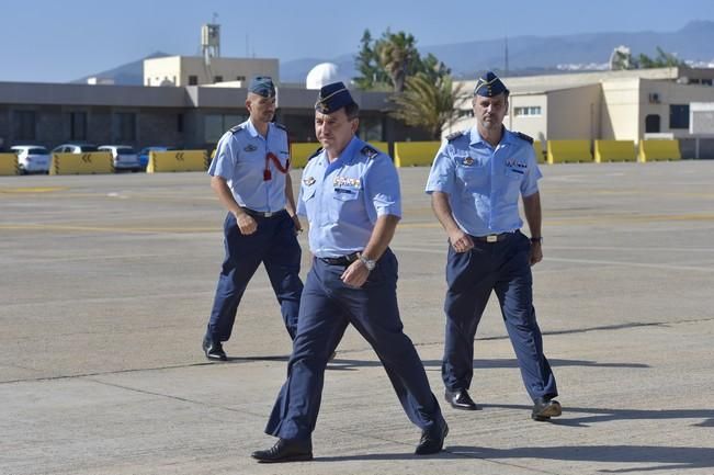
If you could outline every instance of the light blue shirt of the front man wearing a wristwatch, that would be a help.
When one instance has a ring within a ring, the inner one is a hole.
[[[358,137],[332,163],[322,150],[303,171],[297,214],[307,217],[316,257],[362,251],[379,216],[401,216],[397,169],[387,155]]]

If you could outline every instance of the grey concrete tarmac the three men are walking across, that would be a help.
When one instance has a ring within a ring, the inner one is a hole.
[[[350,329],[316,460],[281,465],[249,456],[274,442],[263,428],[291,350],[262,268],[230,361],[201,351],[225,216],[208,178],[0,177],[0,474],[714,474],[714,161],[542,170],[535,308],[563,416],[530,419],[496,302],[476,341],[483,410],[443,403],[446,238],[429,170],[403,169],[400,309],[445,450],[413,455],[419,430]]]

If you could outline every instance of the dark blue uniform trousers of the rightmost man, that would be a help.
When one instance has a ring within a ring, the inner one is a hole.
[[[449,391],[468,389],[474,375],[474,337],[491,291],[531,398],[555,397],[557,388],[533,308],[531,242],[520,231],[502,241],[474,240],[467,252],[449,246],[446,262],[446,342],[442,377]]]

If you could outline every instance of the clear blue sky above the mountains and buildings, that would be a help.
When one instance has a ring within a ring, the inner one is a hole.
[[[355,52],[365,29],[373,35],[404,30],[418,46],[520,35],[672,32],[692,20],[714,21],[714,0],[0,0],[0,81],[66,82],[158,50],[196,55],[201,25],[214,13],[222,56],[285,61]]]

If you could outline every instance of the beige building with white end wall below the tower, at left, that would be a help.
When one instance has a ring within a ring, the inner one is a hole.
[[[201,56],[168,56],[144,60],[144,86],[201,86],[238,81],[243,87],[253,76],[277,80],[275,58],[222,58],[206,61]]]

